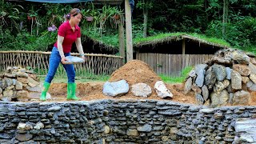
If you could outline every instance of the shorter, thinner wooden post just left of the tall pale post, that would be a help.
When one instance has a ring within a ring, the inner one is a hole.
[[[121,16],[122,17],[122,16]],[[119,38],[119,54],[123,58],[123,62],[125,63],[126,58],[126,50],[125,50],[125,34],[122,22],[118,24],[118,38]]]

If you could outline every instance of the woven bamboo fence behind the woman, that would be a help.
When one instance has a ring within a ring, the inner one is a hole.
[[[45,75],[49,67],[51,52],[41,51],[0,51],[0,72],[8,66],[22,66],[34,70],[37,74]],[[78,56],[77,53],[71,53]],[[76,74],[112,74],[123,65],[123,58],[106,54],[86,54],[86,62],[74,64]],[[66,74],[62,65],[58,66],[56,74]]]

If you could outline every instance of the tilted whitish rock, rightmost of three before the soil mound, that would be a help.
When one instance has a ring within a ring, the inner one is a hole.
[[[173,98],[173,94],[170,93],[170,90],[166,88],[165,83],[162,81],[155,82],[154,89],[160,98]]]

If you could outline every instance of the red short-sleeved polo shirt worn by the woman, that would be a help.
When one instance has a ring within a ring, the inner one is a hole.
[[[73,31],[69,21],[63,22],[62,25],[58,27],[58,35],[64,37],[64,40],[62,42],[64,53],[69,53],[72,44],[77,38],[81,37],[80,27],[74,26],[74,28],[75,29]],[[54,46],[58,48],[57,42],[55,42]]]

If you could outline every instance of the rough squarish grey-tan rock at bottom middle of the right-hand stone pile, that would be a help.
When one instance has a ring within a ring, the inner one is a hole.
[[[229,98],[230,94],[226,90],[222,90],[220,94],[212,92],[210,94],[211,106],[226,106]]]

